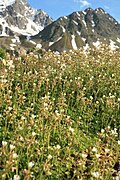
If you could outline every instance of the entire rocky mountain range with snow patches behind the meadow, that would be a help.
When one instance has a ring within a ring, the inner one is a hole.
[[[73,12],[53,21],[27,0],[0,0],[0,47],[17,50],[85,50],[108,44],[120,49],[120,24],[102,8]]]

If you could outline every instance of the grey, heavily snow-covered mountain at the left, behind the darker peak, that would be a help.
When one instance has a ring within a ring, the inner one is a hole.
[[[47,13],[31,8],[26,0],[0,0],[0,36],[35,35],[52,21]]]

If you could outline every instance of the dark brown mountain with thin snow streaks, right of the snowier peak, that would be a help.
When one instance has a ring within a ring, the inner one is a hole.
[[[102,8],[88,8],[59,18],[32,40],[54,51],[98,47],[101,42],[117,49],[120,48],[120,24]]]

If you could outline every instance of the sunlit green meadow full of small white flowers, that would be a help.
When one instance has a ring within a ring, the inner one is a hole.
[[[120,178],[120,53],[0,60],[2,180]]]

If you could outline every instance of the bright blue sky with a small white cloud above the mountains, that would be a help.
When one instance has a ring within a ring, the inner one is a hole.
[[[28,0],[28,3],[33,8],[46,11],[54,20],[88,7],[101,7],[120,22],[120,0]]]

